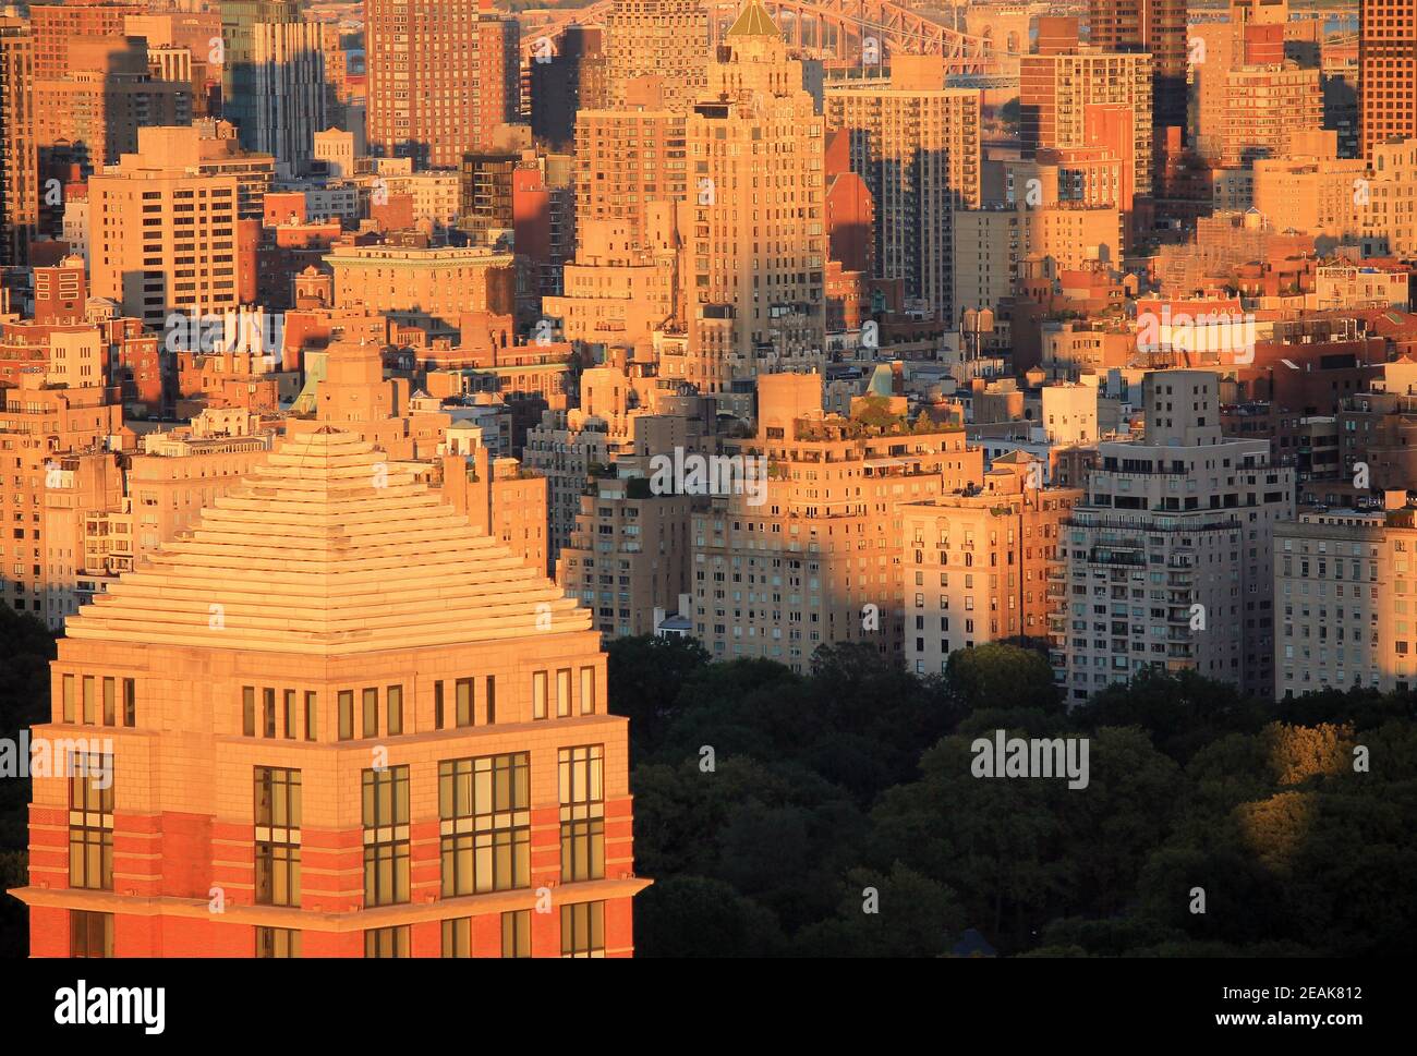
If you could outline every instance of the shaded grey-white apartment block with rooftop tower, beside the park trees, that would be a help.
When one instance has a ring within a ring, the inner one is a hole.
[[[1274,526],[1294,516],[1294,469],[1268,439],[1221,435],[1219,387],[1213,371],[1153,370],[1145,438],[1098,444],[1060,537],[1068,700],[1144,668],[1274,689]]]

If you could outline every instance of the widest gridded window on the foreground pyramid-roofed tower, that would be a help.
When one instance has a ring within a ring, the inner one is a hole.
[[[530,754],[438,764],[442,893],[531,886]]]

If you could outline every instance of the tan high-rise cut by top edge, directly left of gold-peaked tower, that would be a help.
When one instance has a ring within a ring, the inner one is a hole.
[[[604,105],[626,105],[631,82],[652,77],[667,109],[691,108],[708,84],[708,11],[701,0],[615,0],[601,47]]]

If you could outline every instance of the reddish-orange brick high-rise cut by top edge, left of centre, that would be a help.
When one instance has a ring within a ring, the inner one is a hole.
[[[456,169],[520,109],[520,27],[487,0],[368,0],[368,145]]]

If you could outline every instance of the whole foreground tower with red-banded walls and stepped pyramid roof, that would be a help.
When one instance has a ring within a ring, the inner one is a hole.
[[[628,957],[589,614],[330,427],[67,625],[35,957]]]

